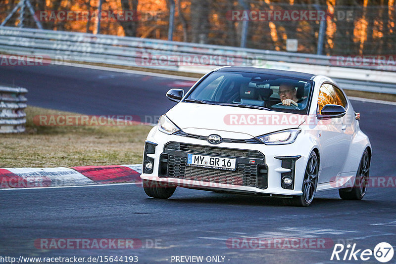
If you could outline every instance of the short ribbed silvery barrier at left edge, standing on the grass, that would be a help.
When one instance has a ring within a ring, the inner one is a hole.
[[[25,131],[27,92],[25,88],[0,85],[0,133]]]

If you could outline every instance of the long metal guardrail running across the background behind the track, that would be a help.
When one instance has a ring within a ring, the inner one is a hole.
[[[396,94],[396,66],[339,67],[323,55],[13,27],[0,27],[0,52],[198,73],[219,66],[287,69],[327,75],[347,89]]]

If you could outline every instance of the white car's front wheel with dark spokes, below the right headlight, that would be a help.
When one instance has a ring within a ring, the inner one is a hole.
[[[318,185],[319,163],[316,153],[311,152],[304,171],[302,181],[302,195],[293,196],[292,199],[284,199],[286,205],[292,206],[309,206],[315,197],[316,187]]]

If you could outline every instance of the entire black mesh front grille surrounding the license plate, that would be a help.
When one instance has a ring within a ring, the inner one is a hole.
[[[166,177],[251,186],[263,189],[267,186],[267,174],[261,174],[257,170],[258,164],[264,165],[265,159],[264,155],[259,151],[171,142],[165,145],[164,153],[168,155],[167,173],[164,175]],[[238,160],[237,169],[235,171],[226,171],[187,166],[188,153],[235,157]],[[248,164],[249,159],[254,159],[256,163]],[[258,176],[257,173],[259,173]]]

